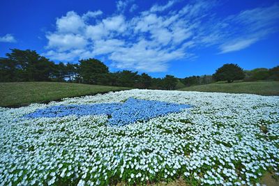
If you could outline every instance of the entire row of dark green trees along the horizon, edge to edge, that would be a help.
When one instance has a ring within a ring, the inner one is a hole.
[[[11,49],[0,58],[0,82],[75,82],[133,88],[173,90],[179,86],[210,84],[212,82],[243,79],[244,81],[279,80],[279,66],[271,69],[243,70],[236,64],[225,64],[213,75],[176,78],[166,75],[153,78],[146,73],[130,70],[110,72],[98,59],[82,59],[76,64],[54,63],[34,50]],[[182,88],[182,87],[181,87]]]

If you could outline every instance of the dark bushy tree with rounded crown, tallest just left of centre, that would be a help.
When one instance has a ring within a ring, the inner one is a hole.
[[[79,72],[82,82],[86,84],[107,84],[109,68],[98,59],[82,59],[79,61]]]

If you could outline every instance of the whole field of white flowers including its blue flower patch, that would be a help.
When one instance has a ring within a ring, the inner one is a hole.
[[[255,185],[279,172],[279,97],[130,90],[0,107],[0,185]]]

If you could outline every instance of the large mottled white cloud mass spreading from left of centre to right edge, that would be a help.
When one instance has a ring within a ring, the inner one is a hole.
[[[133,1],[117,1],[116,13],[98,10],[83,15],[70,11],[56,19],[48,32],[45,55],[59,61],[96,57],[119,69],[166,71],[170,61],[190,59],[202,47],[215,46],[219,54],[253,45],[278,29],[278,4],[216,17],[212,1],[180,1],[154,5],[133,17],[123,14]],[[129,10],[129,9],[128,9]]]

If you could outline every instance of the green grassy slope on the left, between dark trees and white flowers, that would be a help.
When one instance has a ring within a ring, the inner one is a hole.
[[[129,88],[59,82],[0,83],[0,107],[59,100],[61,98],[92,95],[124,89]]]

